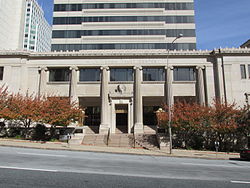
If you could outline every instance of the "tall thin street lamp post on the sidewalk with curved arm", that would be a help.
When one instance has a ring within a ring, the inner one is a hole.
[[[177,37],[175,37],[175,39],[171,42],[171,44],[174,44],[174,42],[176,40],[178,40],[179,38],[183,37],[183,34],[179,34]],[[168,49],[168,53],[167,53],[167,68],[169,69],[169,52],[170,50]],[[168,71],[169,73],[170,71]],[[167,77],[169,77],[169,75],[167,75]],[[170,77],[168,78],[168,132],[169,132],[169,153],[172,154],[172,128],[171,128],[171,121],[172,121],[172,114],[171,114],[171,108],[172,108],[172,104],[171,104],[171,79]]]

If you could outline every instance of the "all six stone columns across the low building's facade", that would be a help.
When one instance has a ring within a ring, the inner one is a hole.
[[[205,67],[198,66],[197,69],[197,83],[196,83],[196,94],[198,102],[201,105],[205,104],[205,89],[204,89],[204,74],[203,69]],[[40,80],[39,80],[39,95],[44,94],[47,84],[46,67],[39,69]],[[69,96],[71,101],[77,101],[77,67],[70,67],[70,88]],[[101,67],[101,125],[99,132],[106,134],[110,128],[109,122],[109,67]],[[141,94],[141,83],[142,83],[142,67],[134,67],[135,81],[134,81],[134,132],[143,133],[143,101]],[[173,67],[165,67],[165,99],[167,105],[172,105],[172,82],[173,82]]]

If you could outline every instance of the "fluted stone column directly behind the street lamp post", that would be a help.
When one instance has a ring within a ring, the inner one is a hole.
[[[165,99],[166,105],[173,104],[172,82],[173,82],[174,67],[165,67]]]

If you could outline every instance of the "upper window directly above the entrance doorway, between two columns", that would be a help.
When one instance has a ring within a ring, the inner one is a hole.
[[[132,68],[110,69],[110,81],[133,81],[133,69]]]

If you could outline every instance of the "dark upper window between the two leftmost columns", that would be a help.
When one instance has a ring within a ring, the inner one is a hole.
[[[67,82],[69,81],[69,68],[50,68],[49,81],[50,82]]]

